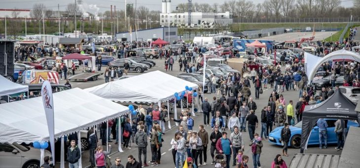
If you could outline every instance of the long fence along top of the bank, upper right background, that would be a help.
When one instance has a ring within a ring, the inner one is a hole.
[[[353,18],[353,22],[359,22],[360,18]],[[329,18],[241,18],[240,23],[331,23],[350,22],[350,17]],[[239,23],[238,17],[233,17],[233,23]]]

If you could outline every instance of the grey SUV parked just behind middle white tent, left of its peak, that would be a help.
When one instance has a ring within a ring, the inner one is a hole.
[[[117,67],[117,68],[120,68],[121,70],[123,70],[125,61],[128,61],[129,65],[130,65],[129,71],[135,71],[137,73],[141,73],[141,72],[147,71],[147,69],[149,68],[149,66],[146,64],[137,63],[134,60],[128,59],[128,58],[122,58],[122,59],[117,59],[117,60],[111,61],[108,63],[108,65],[110,68]]]

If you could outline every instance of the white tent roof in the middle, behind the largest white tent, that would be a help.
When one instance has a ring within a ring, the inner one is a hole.
[[[158,103],[170,100],[175,92],[184,91],[186,85],[193,89],[198,87],[161,71],[153,71],[85,90],[113,101]]]

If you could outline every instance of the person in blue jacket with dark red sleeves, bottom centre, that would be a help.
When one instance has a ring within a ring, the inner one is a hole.
[[[216,149],[219,153],[226,156],[226,168],[230,168],[232,143],[230,139],[227,138],[227,133],[225,131],[222,132],[222,137],[217,140]]]

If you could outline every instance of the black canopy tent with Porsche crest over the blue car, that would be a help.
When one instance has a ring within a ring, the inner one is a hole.
[[[338,90],[322,103],[305,106],[302,114],[300,153],[304,153],[307,138],[320,118],[358,120],[360,123],[360,113],[355,111],[355,107],[356,104]]]

